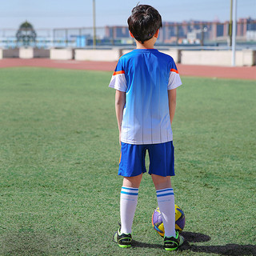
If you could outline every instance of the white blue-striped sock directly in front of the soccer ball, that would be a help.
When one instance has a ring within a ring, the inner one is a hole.
[[[172,188],[157,190],[157,197],[159,210],[162,215],[162,223],[165,228],[165,236],[175,238],[174,190]]]

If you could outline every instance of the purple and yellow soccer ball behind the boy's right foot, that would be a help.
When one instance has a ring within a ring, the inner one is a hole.
[[[175,230],[178,231],[178,233],[181,233],[185,226],[185,214],[183,210],[175,205]],[[152,226],[154,227],[154,230],[158,232],[162,237],[165,235],[165,229],[163,227],[162,223],[162,215],[159,210],[159,207],[154,210],[154,213],[152,214]]]

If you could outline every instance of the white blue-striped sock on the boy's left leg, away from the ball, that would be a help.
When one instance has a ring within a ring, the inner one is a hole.
[[[138,202],[138,188],[122,186],[120,196],[121,234],[131,234]]]

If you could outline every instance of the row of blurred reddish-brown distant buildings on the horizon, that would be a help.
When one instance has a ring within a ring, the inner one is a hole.
[[[106,38],[130,38],[127,26],[106,26]],[[240,18],[237,22],[237,38],[240,41],[254,40],[256,19]],[[256,32],[255,32],[256,33]],[[158,43],[178,44],[227,41],[230,38],[230,22],[162,22]]]

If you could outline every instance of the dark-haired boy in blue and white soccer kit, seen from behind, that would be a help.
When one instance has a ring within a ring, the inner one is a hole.
[[[138,187],[146,172],[154,182],[165,228],[165,250],[176,250],[184,239],[175,231],[174,146],[171,123],[176,107],[176,88],[182,84],[173,58],[154,49],[162,18],[152,6],[134,7],[127,20],[137,48],[123,55],[116,66],[110,87],[116,90],[121,157],[118,175],[123,176],[121,226],[114,234],[118,246],[131,246],[131,227],[138,200]]]

